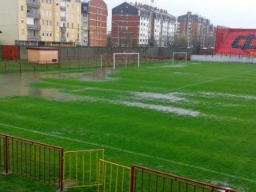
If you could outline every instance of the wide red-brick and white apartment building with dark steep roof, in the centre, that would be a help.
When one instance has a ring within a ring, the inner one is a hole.
[[[176,18],[156,7],[123,2],[112,10],[112,46],[170,46]]]

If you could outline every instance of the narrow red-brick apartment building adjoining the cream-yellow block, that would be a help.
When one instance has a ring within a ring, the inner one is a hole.
[[[103,0],[82,2],[82,46],[106,46],[107,16]]]

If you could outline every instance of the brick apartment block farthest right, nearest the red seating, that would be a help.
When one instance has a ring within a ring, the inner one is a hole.
[[[209,19],[188,12],[178,17],[178,33],[185,35],[189,47],[214,46],[214,26]]]

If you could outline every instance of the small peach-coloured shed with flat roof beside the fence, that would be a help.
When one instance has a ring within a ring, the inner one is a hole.
[[[28,62],[38,64],[58,63],[58,49],[48,47],[30,47],[27,48]]]

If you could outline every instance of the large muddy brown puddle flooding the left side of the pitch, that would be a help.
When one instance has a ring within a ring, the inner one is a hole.
[[[36,89],[31,84],[39,82],[41,78],[61,79],[78,78],[82,81],[105,81],[112,70],[97,70],[84,73],[38,73],[0,74],[0,98],[27,96],[54,99],[59,101],[73,100],[70,94],[62,93],[56,89]]]

